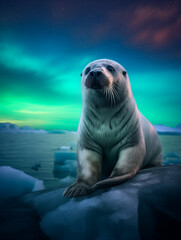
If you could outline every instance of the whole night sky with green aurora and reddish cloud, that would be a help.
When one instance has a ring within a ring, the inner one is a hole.
[[[0,1],[0,122],[76,130],[80,74],[108,58],[153,123],[181,122],[180,1]]]

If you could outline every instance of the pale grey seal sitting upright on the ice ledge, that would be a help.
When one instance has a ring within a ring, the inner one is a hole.
[[[117,62],[89,63],[82,75],[78,127],[78,176],[64,196],[83,196],[132,178],[140,169],[161,166],[159,137],[139,112],[126,70]]]

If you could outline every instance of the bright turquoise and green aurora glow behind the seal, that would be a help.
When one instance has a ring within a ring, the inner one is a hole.
[[[76,130],[81,113],[80,73],[92,57],[77,56],[57,65],[20,47],[0,46],[3,66],[0,122],[44,129]],[[18,59],[18,60],[17,60]],[[73,66],[70,68],[70,66]],[[153,123],[180,121],[180,70],[130,72],[139,110]]]

